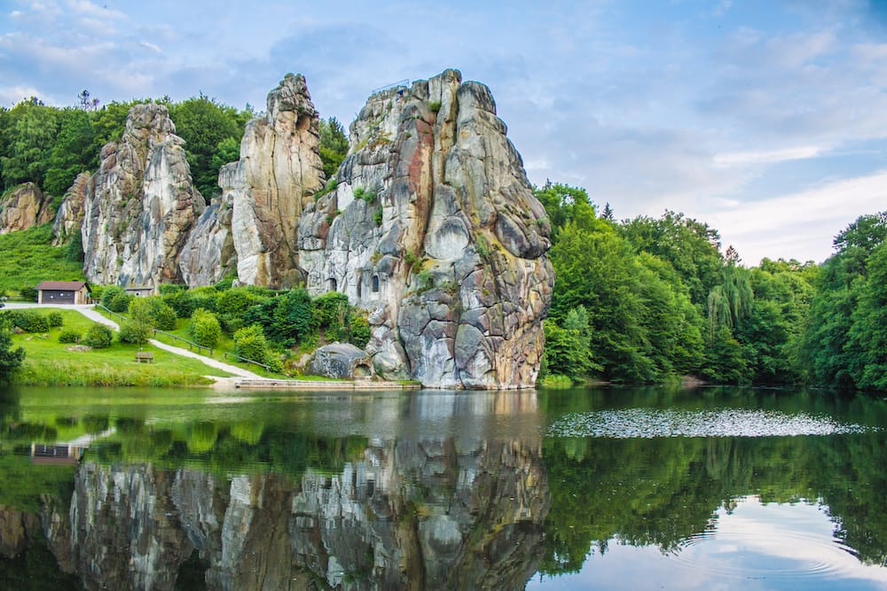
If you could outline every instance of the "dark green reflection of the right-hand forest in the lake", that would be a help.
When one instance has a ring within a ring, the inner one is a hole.
[[[828,505],[867,564],[887,560],[882,434],[720,439],[546,439],[552,491],[543,572],[577,572],[609,540],[670,552],[737,497]]]

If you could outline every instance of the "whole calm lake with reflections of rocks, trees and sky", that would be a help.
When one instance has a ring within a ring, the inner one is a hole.
[[[884,589],[887,402],[0,390],[0,588]]]

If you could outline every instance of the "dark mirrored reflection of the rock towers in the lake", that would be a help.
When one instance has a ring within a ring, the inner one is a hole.
[[[538,570],[549,506],[540,439],[478,432],[371,439],[295,480],[83,463],[43,527],[87,588],[172,589],[196,568],[211,589],[500,589]]]

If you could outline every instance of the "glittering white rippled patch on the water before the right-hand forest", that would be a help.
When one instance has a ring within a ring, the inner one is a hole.
[[[660,410],[628,408],[569,413],[548,428],[550,437],[780,437],[842,435],[877,431],[829,416],[786,414],[775,410]]]

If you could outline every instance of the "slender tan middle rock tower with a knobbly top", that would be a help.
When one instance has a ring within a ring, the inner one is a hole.
[[[232,202],[237,273],[246,284],[290,287],[298,268],[299,219],[323,186],[318,112],[302,75],[268,95],[267,114],[247,123],[240,159],[219,174]]]

